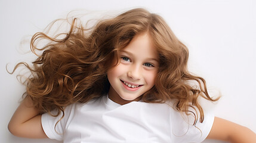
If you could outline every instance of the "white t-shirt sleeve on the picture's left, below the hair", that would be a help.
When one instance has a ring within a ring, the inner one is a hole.
[[[65,116],[63,117],[63,119],[61,119],[61,117],[63,116],[62,112],[56,117],[51,115],[51,114],[53,115],[57,114],[56,110],[51,111],[51,114],[48,114],[48,113],[42,114],[41,124],[48,138],[56,139],[58,141],[63,140],[63,134],[65,132],[67,122],[69,120],[69,117],[72,116],[72,114],[70,114],[72,111],[72,108],[73,108],[73,105],[69,105],[64,109]]]

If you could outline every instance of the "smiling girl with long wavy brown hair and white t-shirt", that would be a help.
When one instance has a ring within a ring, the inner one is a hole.
[[[165,21],[141,8],[86,29],[73,20],[58,39],[36,33],[24,65],[24,100],[13,135],[64,142],[255,142],[254,132],[205,112],[202,77],[187,71],[188,49]],[[50,42],[36,47],[40,40]],[[196,82],[196,83],[195,83]]]

